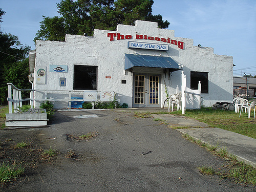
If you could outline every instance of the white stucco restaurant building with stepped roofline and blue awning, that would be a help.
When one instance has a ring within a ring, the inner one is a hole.
[[[129,108],[160,108],[165,91],[174,94],[181,86],[181,67],[187,87],[197,89],[201,81],[202,105],[233,98],[232,56],[193,46],[193,39],[175,37],[174,30],[159,29],[154,22],[94,30],[94,36],[66,35],[63,42],[37,40],[33,56],[34,97],[44,98],[47,91],[47,98],[62,99],[54,108],[68,108],[69,94],[84,91],[89,96],[114,91]]]

